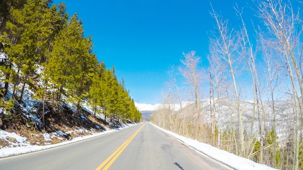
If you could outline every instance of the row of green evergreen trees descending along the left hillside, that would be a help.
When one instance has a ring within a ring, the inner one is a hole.
[[[77,14],[69,17],[64,3],[1,0],[0,35],[0,52],[8,56],[0,61],[5,77],[3,99],[11,83],[13,97],[22,102],[27,84],[43,103],[51,103],[52,111],[64,95],[71,96],[77,111],[81,102],[88,100],[94,113],[141,119],[123,80],[118,82],[114,67],[106,70],[104,62],[97,60],[91,36],[84,36],[81,20]],[[38,67],[43,68],[41,73]],[[20,83],[21,95],[17,95],[16,85]]]

